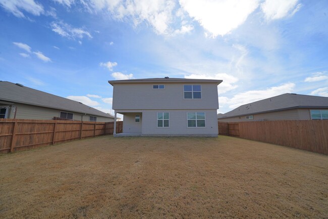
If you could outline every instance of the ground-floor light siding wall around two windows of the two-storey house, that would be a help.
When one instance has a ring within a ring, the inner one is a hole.
[[[205,127],[187,127],[187,113],[193,112],[205,113]],[[170,114],[168,128],[157,128],[157,113]],[[142,135],[198,135],[216,137],[218,133],[216,109],[145,110],[143,111],[142,116]]]

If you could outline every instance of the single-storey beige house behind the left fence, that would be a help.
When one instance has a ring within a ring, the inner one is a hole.
[[[113,122],[114,117],[98,109],[21,84],[0,81],[0,118]]]

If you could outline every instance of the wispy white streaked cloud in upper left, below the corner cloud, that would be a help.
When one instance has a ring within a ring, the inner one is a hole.
[[[91,34],[83,28],[75,28],[64,22],[52,22],[50,26],[53,32],[56,32],[63,37],[67,37],[70,39],[82,39],[86,36],[88,38],[92,38]]]

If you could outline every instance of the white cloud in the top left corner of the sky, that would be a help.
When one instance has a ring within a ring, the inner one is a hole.
[[[39,16],[44,13],[42,5],[34,2],[34,0],[1,0],[0,5],[8,12],[19,18],[25,18],[22,11],[32,15]]]

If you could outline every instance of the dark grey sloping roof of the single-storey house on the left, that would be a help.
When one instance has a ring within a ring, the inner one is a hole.
[[[0,81],[0,100],[114,118],[111,115],[98,111],[98,109],[84,105],[83,103],[8,81]]]

